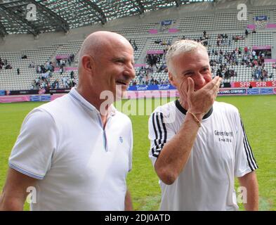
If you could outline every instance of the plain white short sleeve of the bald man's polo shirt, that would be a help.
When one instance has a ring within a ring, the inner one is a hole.
[[[9,166],[35,179],[44,179],[51,167],[57,145],[53,117],[42,109],[34,109],[25,117],[11,156]]]

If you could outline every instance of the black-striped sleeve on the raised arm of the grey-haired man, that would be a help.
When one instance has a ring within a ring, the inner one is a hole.
[[[155,165],[162,148],[175,135],[175,132],[171,129],[171,124],[165,122],[164,113],[161,112],[152,113],[148,121],[148,129],[148,138],[150,139],[149,158],[152,165]]]

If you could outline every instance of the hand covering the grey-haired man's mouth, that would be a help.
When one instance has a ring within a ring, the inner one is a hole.
[[[218,95],[220,84],[221,77],[216,76],[202,89],[195,91],[195,83],[192,78],[188,77],[187,101],[190,112],[202,119],[213,105]]]

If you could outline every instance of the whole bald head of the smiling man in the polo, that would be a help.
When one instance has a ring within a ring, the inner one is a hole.
[[[103,91],[110,91],[112,99],[126,92],[135,77],[133,64],[133,48],[127,39],[114,32],[94,32],[79,51],[77,91],[99,109]]]

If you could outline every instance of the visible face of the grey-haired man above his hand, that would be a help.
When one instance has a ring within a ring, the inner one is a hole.
[[[188,77],[195,83],[195,91],[211,82],[209,56],[203,49],[195,49],[173,58],[174,75],[169,73],[171,84],[187,99]]]

